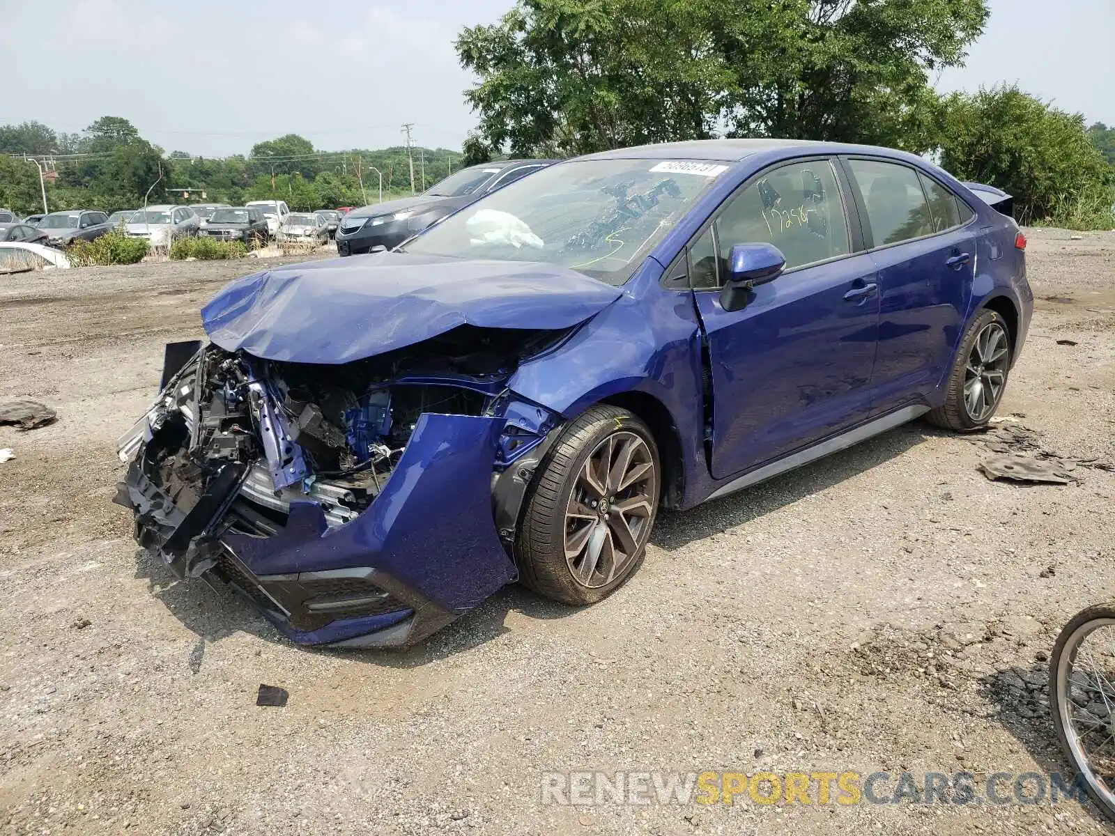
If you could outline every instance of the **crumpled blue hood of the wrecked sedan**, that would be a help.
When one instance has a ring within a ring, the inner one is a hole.
[[[202,309],[202,324],[226,351],[339,364],[464,324],[571,328],[621,293],[556,264],[375,253],[237,279]]]

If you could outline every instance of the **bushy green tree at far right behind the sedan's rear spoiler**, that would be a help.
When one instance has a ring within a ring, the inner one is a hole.
[[[1009,192],[1022,223],[1067,216],[1080,204],[1111,207],[1111,168],[1079,114],[998,86],[943,99],[939,132],[941,165]]]

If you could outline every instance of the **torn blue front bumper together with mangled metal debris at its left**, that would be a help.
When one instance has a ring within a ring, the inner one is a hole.
[[[515,579],[492,502],[506,417],[423,412],[358,507],[310,473],[274,381],[250,364],[210,347],[167,378],[119,441],[115,502],[180,577],[227,584],[297,643],[343,647],[413,644]]]

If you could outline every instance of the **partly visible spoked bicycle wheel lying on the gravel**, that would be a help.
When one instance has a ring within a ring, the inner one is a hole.
[[[1073,616],[1049,658],[1049,708],[1060,748],[1092,800],[1115,819],[1115,606]]]

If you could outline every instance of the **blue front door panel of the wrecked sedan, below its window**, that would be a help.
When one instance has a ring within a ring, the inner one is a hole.
[[[795,270],[725,311],[698,293],[712,363],[712,475],[729,477],[864,420],[879,334],[867,255]],[[851,292],[860,295],[846,298]]]

